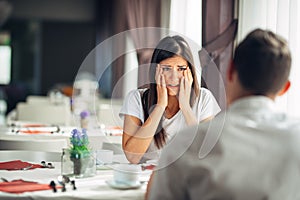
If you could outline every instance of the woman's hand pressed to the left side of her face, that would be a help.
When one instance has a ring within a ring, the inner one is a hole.
[[[157,90],[157,104],[166,108],[168,105],[168,91],[166,87],[165,76],[163,75],[163,69],[160,64],[157,64],[156,73],[156,90]]]

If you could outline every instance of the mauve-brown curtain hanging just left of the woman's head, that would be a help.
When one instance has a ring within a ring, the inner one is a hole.
[[[138,86],[149,83],[149,63],[153,53],[153,47],[160,39],[160,32],[148,32],[143,27],[161,26],[161,1],[160,0],[130,0],[125,1],[125,12],[129,29],[141,28],[131,32],[132,40],[136,46],[138,58]]]

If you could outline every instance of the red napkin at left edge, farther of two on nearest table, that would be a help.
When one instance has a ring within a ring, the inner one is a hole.
[[[42,167],[43,166],[40,164],[32,164],[29,162],[23,162],[21,160],[0,162],[0,170],[29,170]]]

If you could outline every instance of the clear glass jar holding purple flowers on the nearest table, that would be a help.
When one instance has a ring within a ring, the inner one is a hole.
[[[85,178],[96,175],[95,152],[72,154],[70,149],[63,149],[61,174],[68,177]]]

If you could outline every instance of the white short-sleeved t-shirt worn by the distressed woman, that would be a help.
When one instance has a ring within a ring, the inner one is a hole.
[[[128,93],[125,97],[124,104],[119,113],[120,117],[124,119],[124,115],[131,115],[141,120],[144,123],[144,111],[142,105],[141,94],[145,89],[135,89]],[[196,114],[198,122],[218,114],[221,109],[212,95],[212,93],[205,89],[200,89],[200,95],[196,99],[192,106],[193,112]],[[179,110],[172,118],[168,119],[163,116],[162,127],[164,128],[167,138],[166,144],[170,141],[180,130],[187,127],[183,113]],[[144,154],[142,161],[145,160],[157,160],[160,155],[160,149],[158,149],[154,140],[152,140],[147,152]]]

